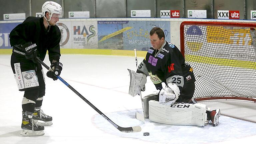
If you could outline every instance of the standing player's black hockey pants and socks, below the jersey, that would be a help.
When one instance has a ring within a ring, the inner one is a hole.
[[[15,67],[14,64],[17,64],[17,63],[20,65],[21,72],[35,70],[35,74],[37,76],[39,86],[19,89],[19,91],[24,91],[24,98],[35,102],[35,104],[31,102],[22,104],[23,112],[25,111],[34,112],[35,107],[42,106],[43,96],[45,95],[45,81],[44,81],[44,73],[42,71],[42,66],[39,63],[35,64],[31,60],[27,60],[25,56],[12,54],[11,67],[14,74],[16,73],[16,69],[17,69],[17,67]],[[17,85],[19,85],[18,82],[17,82]]]

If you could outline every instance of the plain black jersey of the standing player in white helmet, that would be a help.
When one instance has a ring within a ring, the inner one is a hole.
[[[45,29],[43,17],[28,17],[17,25],[10,33],[11,46],[26,42],[36,43],[38,57],[43,61],[48,50],[49,60],[59,61],[61,33],[58,26],[48,26]],[[13,54],[17,54],[13,51]],[[25,56],[24,56],[25,58]]]

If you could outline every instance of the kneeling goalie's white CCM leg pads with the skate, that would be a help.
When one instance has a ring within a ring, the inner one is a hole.
[[[144,117],[151,121],[171,125],[197,125],[205,126],[210,121],[213,126],[218,125],[220,110],[212,110],[204,104],[196,103],[192,98],[191,103],[174,103],[165,105],[159,103],[159,96],[151,94],[143,97]]]

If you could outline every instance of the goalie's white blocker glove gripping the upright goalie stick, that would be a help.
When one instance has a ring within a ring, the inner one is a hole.
[[[136,96],[140,94],[140,89],[145,91],[145,83],[147,82],[147,76],[145,74],[136,73],[133,70],[127,69],[130,73],[130,86],[129,86],[129,95]]]

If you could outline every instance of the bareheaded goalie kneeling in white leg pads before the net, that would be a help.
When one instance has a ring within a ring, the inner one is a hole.
[[[195,91],[193,69],[185,63],[179,49],[174,44],[165,41],[165,35],[161,28],[154,27],[149,34],[152,47],[147,51],[146,57],[140,63],[136,72],[150,76],[156,89],[160,90],[158,95],[155,96],[155,100],[159,102],[149,103],[149,119],[165,124],[198,126],[204,126],[210,120],[213,126],[218,125],[219,109],[210,111],[203,104],[195,104],[197,102],[193,98]],[[141,78],[139,78],[140,80],[135,78],[137,82],[139,81],[135,85],[140,86],[141,90],[145,91],[146,76],[138,75],[134,74],[134,76]],[[135,92],[136,94],[138,92]],[[184,105],[184,103],[190,104]],[[179,105],[177,106],[177,104]],[[197,111],[198,109],[200,111]],[[161,111],[163,112],[161,113]],[[198,115],[195,113],[198,113]],[[194,121],[195,119],[197,121]]]

